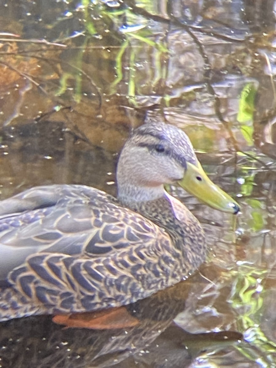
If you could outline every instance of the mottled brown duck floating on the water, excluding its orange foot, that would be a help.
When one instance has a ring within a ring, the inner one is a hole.
[[[204,233],[164,184],[238,212],[172,125],[134,131],[120,155],[117,184],[118,199],[81,185],[51,185],[0,203],[0,320],[129,304],[197,269],[206,254]]]

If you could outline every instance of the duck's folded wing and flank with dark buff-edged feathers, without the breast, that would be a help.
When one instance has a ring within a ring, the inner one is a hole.
[[[49,313],[128,304],[173,283],[167,233],[95,188],[32,188],[2,201],[0,216],[2,284]]]

